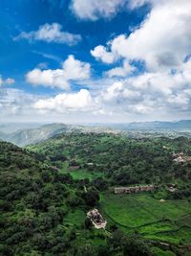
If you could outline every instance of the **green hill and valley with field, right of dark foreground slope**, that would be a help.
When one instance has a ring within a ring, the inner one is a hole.
[[[45,162],[62,174],[91,182],[99,191],[98,208],[109,226],[126,235],[137,233],[158,245],[167,244],[165,249],[174,247],[177,255],[191,242],[190,142],[185,137],[136,139],[124,134],[68,133],[27,149],[43,154]],[[187,160],[177,161],[179,155]],[[114,194],[115,187],[141,184],[153,184],[155,190]],[[164,255],[174,254],[168,251]]]

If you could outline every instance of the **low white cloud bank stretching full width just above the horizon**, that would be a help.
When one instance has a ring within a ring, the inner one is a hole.
[[[62,122],[128,122],[189,118],[191,61],[173,73],[150,72],[110,80],[105,89],[81,89],[44,97],[15,89],[0,91],[0,115]],[[97,81],[97,85],[103,80]],[[96,88],[95,88],[96,89]],[[62,119],[61,119],[62,118]],[[83,120],[83,121],[82,121]]]

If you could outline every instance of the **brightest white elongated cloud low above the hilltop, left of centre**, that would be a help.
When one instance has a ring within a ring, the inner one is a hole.
[[[37,101],[33,107],[39,110],[53,110],[56,112],[89,111],[93,107],[90,92],[81,89],[76,93],[61,93],[53,98]]]

